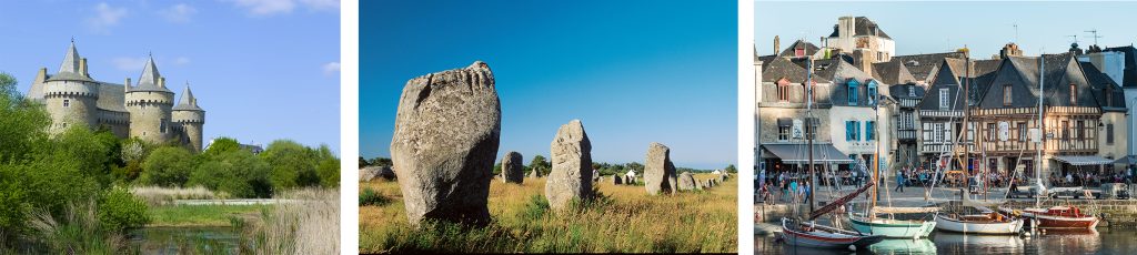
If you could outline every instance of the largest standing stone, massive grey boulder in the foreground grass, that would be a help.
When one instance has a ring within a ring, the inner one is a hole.
[[[484,62],[407,82],[391,160],[412,226],[423,220],[489,222],[500,130],[501,105]]]

